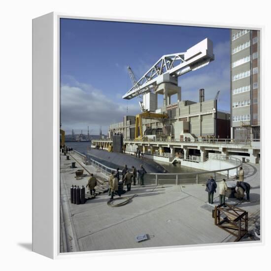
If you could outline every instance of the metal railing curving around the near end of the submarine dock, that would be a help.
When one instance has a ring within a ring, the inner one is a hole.
[[[111,171],[114,172],[116,169],[109,168],[104,166],[102,163],[95,161],[94,159],[87,157],[86,155],[81,154],[78,151],[74,151],[78,154],[81,159],[87,164],[93,166],[95,169],[100,170],[105,176],[109,176]],[[217,170],[201,170],[194,172],[182,172],[182,173],[146,173],[144,175],[145,184],[155,184],[155,185],[165,185],[165,184],[199,184],[205,183],[210,175],[213,175],[214,179],[217,181],[219,178],[229,179],[230,170],[237,169],[242,165],[242,161],[235,158],[229,157],[220,154],[211,154],[209,159],[227,161],[233,164],[233,167],[226,169],[217,169]],[[122,179],[121,175],[122,170],[119,170],[120,180]]]

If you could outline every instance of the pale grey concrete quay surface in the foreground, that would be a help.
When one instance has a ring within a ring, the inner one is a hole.
[[[138,196],[120,207],[107,205],[108,193],[97,195],[85,204],[71,204],[71,185],[85,187],[89,179],[89,173],[84,170],[87,175],[75,180],[75,171],[82,169],[82,165],[100,180],[107,177],[82,164],[76,154],[70,154],[70,160],[60,157],[61,252],[211,244],[235,239],[214,225],[212,209],[219,204],[219,194],[215,193],[213,205],[207,203],[204,184],[132,185],[131,191],[121,197]],[[76,162],[76,169],[70,168],[71,162]],[[250,202],[227,203],[248,211],[249,234],[241,241],[259,240],[253,233],[255,222],[260,223],[260,165],[247,163],[243,169],[245,181],[252,187]],[[147,234],[148,239],[136,242],[135,237],[142,234]]]

